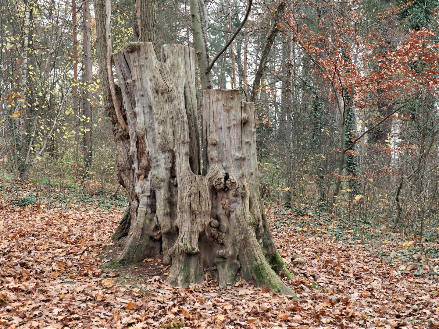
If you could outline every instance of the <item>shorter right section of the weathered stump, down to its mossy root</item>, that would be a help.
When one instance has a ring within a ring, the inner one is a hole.
[[[214,259],[219,284],[234,282],[239,269],[244,279],[290,291],[261,250],[264,240],[270,247],[274,241],[268,225],[264,230],[259,197],[254,105],[241,101],[238,90],[212,89],[203,92],[203,111],[206,179],[212,179],[212,214],[216,216],[210,230],[219,242]],[[277,258],[277,250],[269,254],[264,249],[269,259]]]

